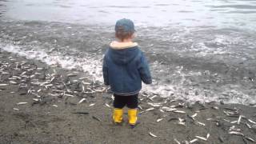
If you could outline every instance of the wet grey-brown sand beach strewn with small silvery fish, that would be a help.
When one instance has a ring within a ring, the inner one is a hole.
[[[0,86],[0,143],[186,143],[195,136],[206,138],[207,134],[210,135],[206,141],[198,138],[194,143],[255,143],[250,138],[256,140],[255,106],[190,104],[140,94],[142,110],[139,110],[138,125],[132,129],[127,124],[126,113],[122,126],[112,124],[111,94],[103,92],[105,86],[82,72],[47,66],[4,51],[0,52],[0,67],[0,84],[8,84]],[[43,70],[38,69],[42,67]],[[68,78],[68,74],[76,76]],[[21,79],[10,79],[21,75]],[[79,80],[82,77],[87,78]],[[50,83],[38,85],[36,79],[40,82],[48,79]],[[21,86],[21,82],[27,86]],[[82,98],[85,101],[78,103]],[[27,103],[18,105],[18,102]],[[152,107],[154,110],[149,110]],[[241,121],[237,122],[240,115]],[[232,134],[234,131],[244,136]]]

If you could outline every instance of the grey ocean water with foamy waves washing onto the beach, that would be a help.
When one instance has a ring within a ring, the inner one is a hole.
[[[256,1],[0,0],[0,49],[102,82],[114,24],[130,18],[154,82],[187,102],[256,103]]]

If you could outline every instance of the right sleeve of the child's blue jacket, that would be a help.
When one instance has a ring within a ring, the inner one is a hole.
[[[152,83],[150,67],[149,67],[143,53],[142,53],[142,57],[141,57],[141,62],[138,65],[138,72],[142,78],[142,82],[144,82],[146,84]]]

